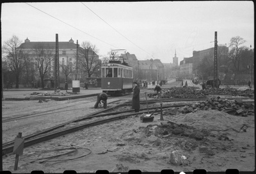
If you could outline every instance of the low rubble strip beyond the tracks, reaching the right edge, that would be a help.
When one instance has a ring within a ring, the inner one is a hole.
[[[220,88],[218,89],[218,92],[216,88],[209,88],[207,90],[201,90],[202,93],[205,95],[209,94],[218,94],[218,95],[232,95],[232,96],[243,96],[243,97],[253,97],[254,96],[254,90],[252,89],[246,89],[246,90],[237,90],[236,88]]]

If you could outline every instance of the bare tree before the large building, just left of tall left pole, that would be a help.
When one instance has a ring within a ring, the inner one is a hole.
[[[33,48],[42,88],[44,88],[44,77],[46,74],[49,74],[50,68],[52,67],[51,61],[54,59],[53,50],[54,48],[50,47],[47,43],[38,43]]]

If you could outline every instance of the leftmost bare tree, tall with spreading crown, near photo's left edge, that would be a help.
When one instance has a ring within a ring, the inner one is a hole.
[[[19,78],[22,74],[22,69],[26,65],[27,55],[24,54],[24,49],[20,47],[21,40],[13,35],[10,40],[4,42],[3,53],[5,53],[8,68],[15,74],[15,88],[19,88]]]

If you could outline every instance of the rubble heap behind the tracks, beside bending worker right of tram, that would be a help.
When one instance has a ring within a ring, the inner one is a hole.
[[[181,99],[181,98],[204,98],[205,93],[198,90],[198,87],[172,87],[169,89],[162,89],[158,95],[156,93],[148,93],[148,97],[155,99]]]

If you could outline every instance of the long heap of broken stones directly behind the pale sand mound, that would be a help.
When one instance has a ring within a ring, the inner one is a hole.
[[[179,111],[179,113],[195,113],[199,110],[209,111],[213,109],[224,111],[230,115],[247,116],[254,114],[254,104],[243,103],[242,99],[227,100],[220,99],[220,97],[207,99],[204,102],[196,102],[195,104],[180,107],[179,109],[168,109],[164,111],[164,114],[174,115],[176,111]]]

